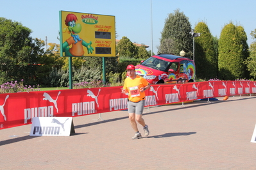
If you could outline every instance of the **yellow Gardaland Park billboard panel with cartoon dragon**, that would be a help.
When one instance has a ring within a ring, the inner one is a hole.
[[[60,11],[60,56],[115,57],[115,17]]]

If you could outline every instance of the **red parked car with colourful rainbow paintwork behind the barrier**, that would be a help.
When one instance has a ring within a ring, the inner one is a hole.
[[[196,78],[196,66],[189,58],[157,54],[141,62],[135,71],[150,84],[193,82]]]

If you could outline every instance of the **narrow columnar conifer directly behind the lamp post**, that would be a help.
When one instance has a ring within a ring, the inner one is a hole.
[[[205,22],[199,22],[196,32],[201,36],[195,40],[196,75],[201,79],[214,79],[218,75],[218,56],[214,49],[214,40]]]

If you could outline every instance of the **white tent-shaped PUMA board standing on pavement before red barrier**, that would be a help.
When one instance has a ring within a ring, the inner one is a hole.
[[[72,117],[35,117],[30,130],[33,136],[69,136],[71,133],[74,133]]]

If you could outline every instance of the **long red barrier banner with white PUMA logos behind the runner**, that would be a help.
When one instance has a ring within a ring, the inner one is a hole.
[[[76,117],[127,109],[122,86],[0,94],[0,129],[28,125],[34,117]],[[256,93],[252,81],[151,84],[145,106]]]

